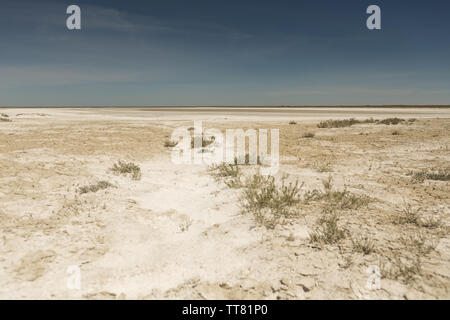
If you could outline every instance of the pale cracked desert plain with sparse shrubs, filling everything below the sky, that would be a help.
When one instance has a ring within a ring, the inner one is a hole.
[[[450,108],[0,113],[1,299],[450,298]],[[194,120],[278,129],[273,180],[171,161]]]

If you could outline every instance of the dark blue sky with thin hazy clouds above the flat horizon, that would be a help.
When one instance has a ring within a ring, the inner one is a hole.
[[[450,1],[0,2],[0,106],[383,104],[450,104]]]

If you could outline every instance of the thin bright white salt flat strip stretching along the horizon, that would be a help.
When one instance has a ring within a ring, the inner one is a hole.
[[[48,116],[58,116],[59,119],[148,119],[148,120],[323,120],[329,118],[450,118],[450,107],[393,107],[393,108],[358,108],[358,107],[150,107],[150,108],[19,108],[0,110],[12,114],[45,113]]]

